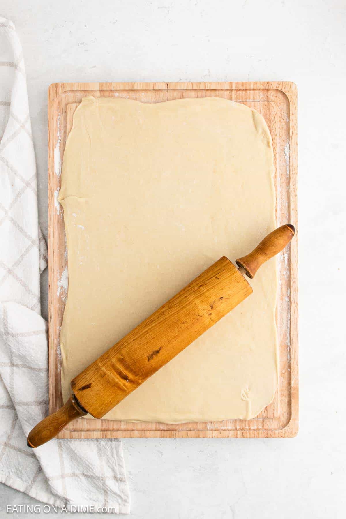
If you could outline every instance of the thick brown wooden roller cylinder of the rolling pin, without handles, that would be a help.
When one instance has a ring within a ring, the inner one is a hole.
[[[251,293],[223,256],[71,381],[79,403],[101,418]]]

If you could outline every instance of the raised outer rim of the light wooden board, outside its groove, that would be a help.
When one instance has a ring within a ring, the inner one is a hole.
[[[230,83],[54,83],[48,90],[48,171],[49,180],[54,173],[54,135],[57,131],[57,121],[54,121],[53,101],[62,92],[68,90],[187,90],[187,89],[278,89],[288,98],[290,106],[290,223],[297,231],[297,87],[290,81],[254,81]],[[48,262],[52,265],[54,259],[54,230],[52,228],[52,214],[54,206],[54,192],[49,189],[49,249]],[[298,231],[290,245],[290,354],[291,354],[291,417],[288,424],[280,430],[217,430],[217,431],[68,431],[64,430],[59,438],[293,438],[298,432]],[[49,322],[53,313],[52,279],[49,273]],[[53,379],[55,356],[53,348],[53,330],[49,328],[49,401],[56,398],[56,387]]]

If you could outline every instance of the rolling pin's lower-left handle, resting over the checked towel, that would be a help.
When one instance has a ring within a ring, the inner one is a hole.
[[[27,435],[26,445],[31,448],[39,447],[52,440],[72,420],[85,416],[87,411],[81,407],[75,395],[67,400],[66,404],[56,413],[41,420]]]

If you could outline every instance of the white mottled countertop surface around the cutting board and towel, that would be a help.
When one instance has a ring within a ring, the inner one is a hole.
[[[300,432],[292,440],[129,439],[123,448],[136,519],[344,517],[344,1],[2,0],[0,15],[23,46],[46,237],[51,83],[297,84]],[[42,292],[47,316],[47,274]],[[4,485],[0,495],[1,516],[7,504],[35,502]]]

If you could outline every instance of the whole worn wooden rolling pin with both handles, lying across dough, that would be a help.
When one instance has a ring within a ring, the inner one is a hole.
[[[258,268],[278,254],[295,234],[293,225],[270,233],[247,256],[225,256],[207,268],[183,290],[135,327],[99,359],[71,380],[66,404],[37,424],[27,436],[38,447],[68,423],[90,413],[102,418],[134,389],[239,305],[253,290],[244,274],[253,278]]]

